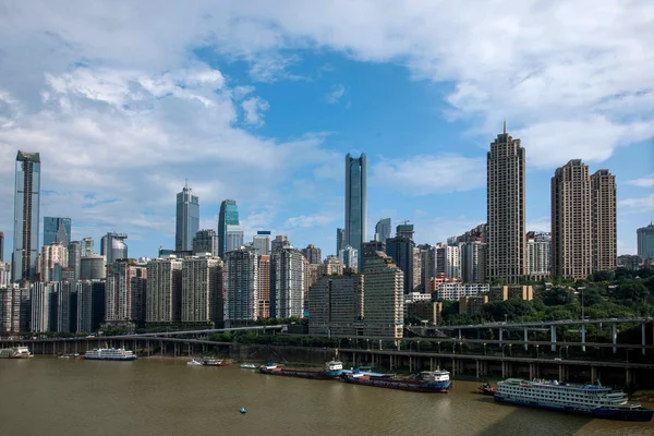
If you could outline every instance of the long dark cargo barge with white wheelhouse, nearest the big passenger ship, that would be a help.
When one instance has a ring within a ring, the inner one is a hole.
[[[423,371],[410,379],[395,378],[393,376],[371,376],[347,374],[347,383],[354,385],[375,386],[378,388],[409,390],[413,392],[447,392],[451,382],[447,371]]]

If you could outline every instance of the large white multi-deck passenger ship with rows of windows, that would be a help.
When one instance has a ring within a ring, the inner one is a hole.
[[[600,380],[596,385],[579,385],[508,378],[497,384],[495,400],[622,421],[647,422],[654,415],[654,411],[629,402],[627,393],[602,386]]]

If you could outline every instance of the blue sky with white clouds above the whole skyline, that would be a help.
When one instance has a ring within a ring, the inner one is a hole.
[[[336,251],[344,155],[368,157],[368,222],[434,244],[486,221],[501,132],[526,152],[526,227],[583,159],[618,184],[618,254],[654,219],[654,2],[250,0],[0,3],[0,231],[19,149],[40,215],[72,237],[174,247],[175,194],[201,228],[235,199],[257,230]],[[43,232],[43,222],[41,222]],[[43,235],[41,235],[43,241]]]

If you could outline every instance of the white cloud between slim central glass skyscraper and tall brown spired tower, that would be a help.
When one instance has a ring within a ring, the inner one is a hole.
[[[469,191],[486,183],[486,161],[450,154],[382,159],[373,165],[372,182],[404,195]]]

